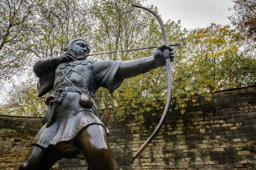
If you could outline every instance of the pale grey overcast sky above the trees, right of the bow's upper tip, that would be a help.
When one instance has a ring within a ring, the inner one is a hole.
[[[143,5],[157,6],[164,22],[181,20],[182,28],[194,29],[210,26],[210,23],[230,24],[231,0],[145,0]]]

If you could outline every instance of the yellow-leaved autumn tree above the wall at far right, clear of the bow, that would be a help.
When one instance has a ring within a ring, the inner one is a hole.
[[[255,84],[255,59],[242,54],[239,47],[243,37],[230,26],[211,24],[195,29],[188,34],[187,41],[191,76],[206,91]]]

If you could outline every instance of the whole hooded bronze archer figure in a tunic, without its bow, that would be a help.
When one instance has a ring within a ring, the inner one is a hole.
[[[91,170],[119,170],[107,141],[108,129],[99,119],[94,95],[99,87],[113,93],[125,78],[134,77],[172,61],[173,48],[159,46],[154,55],[128,61],[94,61],[84,39],[70,41],[60,56],[34,64],[38,96],[46,95],[43,127],[34,138],[19,170],[48,170],[62,158],[84,159]],[[79,57],[80,56],[80,57]]]

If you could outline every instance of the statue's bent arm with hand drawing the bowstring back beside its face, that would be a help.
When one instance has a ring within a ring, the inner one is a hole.
[[[67,51],[60,56],[39,59],[34,64],[33,71],[37,77],[40,77],[40,75],[46,72],[55,71],[57,66],[59,66],[59,64],[61,63],[66,63],[75,60],[74,56],[75,55],[73,52]]]

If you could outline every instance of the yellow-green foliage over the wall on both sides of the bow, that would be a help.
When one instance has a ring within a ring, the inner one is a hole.
[[[195,95],[210,101],[216,90],[255,85],[256,60],[239,51],[243,38],[229,26],[212,24],[187,32],[180,30],[179,23],[169,21],[165,27],[169,42],[184,44],[176,48],[172,63],[172,99],[175,109],[182,114],[187,104],[199,105]],[[148,115],[161,113],[166,87],[164,67],[126,80],[114,97],[115,118],[123,121],[134,116],[137,123],[143,123]]]

